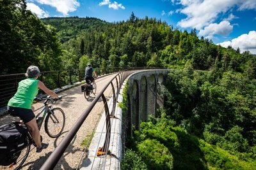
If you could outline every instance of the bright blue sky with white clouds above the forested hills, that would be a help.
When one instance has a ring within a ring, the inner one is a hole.
[[[28,0],[38,17],[95,17],[108,22],[161,19],[200,38],[256,54],[256,0]]]

